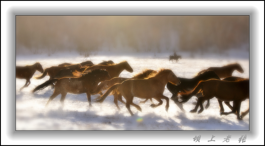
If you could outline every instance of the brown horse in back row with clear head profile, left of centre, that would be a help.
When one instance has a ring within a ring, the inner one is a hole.
[[[87,69],[85,69],[85,71],[83,71],[83,73],[85,73],[88,70],[95,69],[95,68],[107,70],[109,72],[109,75],[111,78],[118,77],[123,70],[126,70],[130,73],[133,72],[133,68],[129,65],[129,63],[127,61],[123,61],[123,62],[120,62],[118,64],[113,64],[113,65],[109,65],[109,66],[94,65],[91,67],[87,67]]]

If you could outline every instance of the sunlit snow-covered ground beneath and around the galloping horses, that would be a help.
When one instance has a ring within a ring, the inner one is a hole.
[[[51,56],[43,54],[16,56],[16,66],[40,62],[45,69],[64,62],[81,63],[91,60],[94,64],[98,64],[103,60],[112,60],[114,63],[126,60],[134,71],[129,73],[124,70],[120,77],[131,78],[144,69],[168,68],[177,77],[193,78],[195,73],[203,69],[237,62],[244,69],[244,73],[234,71],[233,76],[249,78],[248,55],[241,55],[241,57],[204,55],[204,57],[191,58],[189,54],[182,53],[178,54],[182,55],[182,59],[178,63],[175,63],[175,60],[174,63],[169,62],[169,55],[172,54],[156,53],[154,56],[154,53],[124,55],[99,52],[95,55],[92,54],[89,58],[84,58],[74,52],[52,54]],[[41,75],[41,73],[36,71],[34,76],[37,75]],[[127,108],[121,102],[118,102],[121,108],[118,111],[113,103],[113,96],[108,96],[103,103],[95,103],[93,99],[96,98],[96,95],[91,96],[92,107],[89,108],[85,93],[80,95],[68,93],[63,109],[61,109],[60,103],[61,95],[58,95],[49,107],[45,108],[45,104],[53,94],[53,89],[47,87],[35,93],[31,93],[31,90],[48,79],[48,75],[41,80],[31,78],[31,85],[19,91],[26,80],[16,78],[16,130],[249,130],[249,114],[242,121],[237,120],[235,114],[220,116],[216,98],[210,100],[209,108],[204,109],[201,114],[189,113],[194,108],[192,103],[195,102],[196,97],[192,97],[183,104],[186,113],[182,112],[172,100],[170,100],[168,112],[165,111],[165,100],[157,108],[149,107],[150,100],[148,100],[145,104],[139,104],[142,112],[131,106],[135,115],[130,116]],[[169,98],[172,96],[166,87],[164,95]],[[125,101],[125,99],[123,100]],[[138,104],[141,100],[143,99],[135,97],[133,102]],[[246,99],[242,102],[240,111],[248,109],[248,101],[249,99]],[[154,102],[156,101],[154,100]],[[224,109],[230,111],[225,104]]]

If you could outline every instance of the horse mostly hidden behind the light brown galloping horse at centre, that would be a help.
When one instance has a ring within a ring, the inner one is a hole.
[[[98,87],[95,89],[94,93],[98,94],[101,91],[108,89],[112,85],[114,85],[116,83],[122,83],[123,81],[128,80],[128,79],[144,79],[144,78],[147,78],[149,75],[151,75],[153,73],[157,73],[157,71],[154,71],[154,70],[151,70],[151,69],[146,69],[146,70],[142,71],[141,73],[138,73],[137,75],[134,75],[133,78],[115,77],[115,78],[112,78],[110,80],[105,80],[105,81],[101,82],[98,85]],[[126,102],[124,102],[122,100],[122,95],[118,94],[117,92],[113,93],[113,96],[114,96],[114,103],[115,103],[116,107],[118,108],[118,110],[120,110],[120,107],[118,105],[118,100],[120,102],[122,102],[123,104],[126,104]],[[150,100],[152,102],[152,98],[150,98]],[[145,101],[141,101],[140,103],[145,103]]]

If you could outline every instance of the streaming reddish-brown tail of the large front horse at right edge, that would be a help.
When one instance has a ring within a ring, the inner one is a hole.
[[[202,86],[204,84],[204,81],[200,81],[198,85],[192,90],[192,91],[185,91],[179,93],[180,103],[187,102],[192,96],[196,95],[199,92],[202,92]]]

